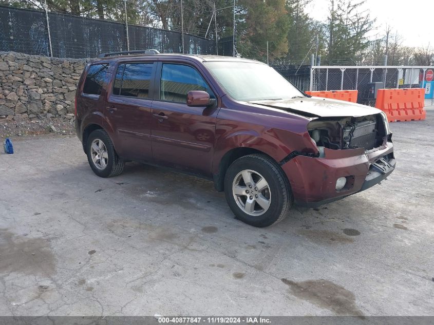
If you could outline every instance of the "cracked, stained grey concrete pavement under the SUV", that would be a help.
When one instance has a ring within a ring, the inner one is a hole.
[[[135,163],[102,179],[77,138],[14,141],[0,315],[434,315],[427,113],[390,124],[398,165],[382,185],[262,229],[212,182]]]

